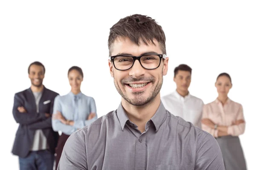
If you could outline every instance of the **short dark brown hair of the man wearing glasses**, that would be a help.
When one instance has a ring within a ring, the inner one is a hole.
[[[166,54],[166,37],[163,29],[151,17],[134,14],[120,19],[115,25],[110,28],[108,37],[109,55],[111,55],[111,45],[118,37],[128,37],[132,42],[140,45],[142,40],[146,45],[148,42],[153,42],[156,39],[160,42],[163,54]],[[155,45],[155,44],[154,44]]]

